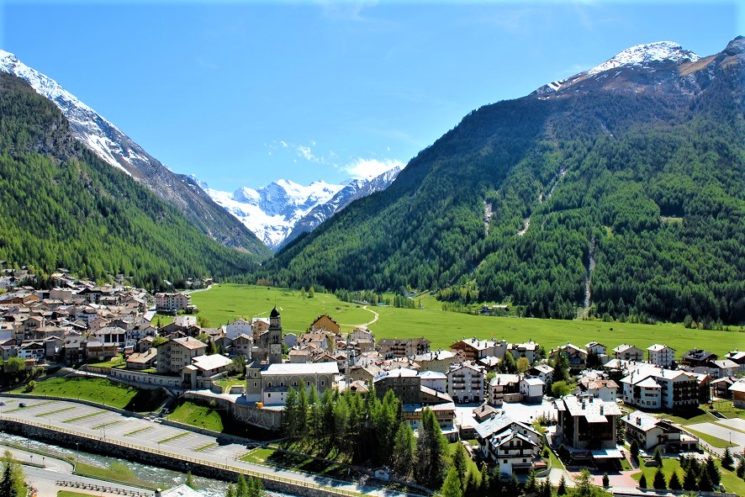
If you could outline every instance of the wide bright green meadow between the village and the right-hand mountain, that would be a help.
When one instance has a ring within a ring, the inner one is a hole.
[[[510,342],[529,339],[544,347],[572,342],[584,345],[592,340],[609,347],[631,343],[648,347],[665,343],[679,353],[692,348],[704,348],[720,356],[745,342],[745,332],[690,330],[682,324],[631,324],[602,321],[529,319],[516,317],[476,316],[443,311],[440,302],[429,295],[418,299],[421,309],[368,307],[338,300],[333,294],[316,292],[313,298],[299,291],[253,285],[215,285],[210,290],[192,294],[192,302],[201,309],[212,326],[219,326],[240,317],[267,317],[274,305],[282,313],[285,331],[304,331],[313,319],[329,314],[345,330],[367,324],[376,338],[424,336],[435,348],[445,348],[464,337],[503,338]],[[379,315],[375,320],[375,313]]]

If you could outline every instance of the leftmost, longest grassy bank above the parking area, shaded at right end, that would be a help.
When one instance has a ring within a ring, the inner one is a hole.
[[[25,393],[25,387],[15,389],[13,393]],[[31,393],[71,400],[87,400],[139,412],[153,410],[161,402],[163,396],[159,390],[141,391],[105,378],[83,377],[56,377],[38,381]]]

